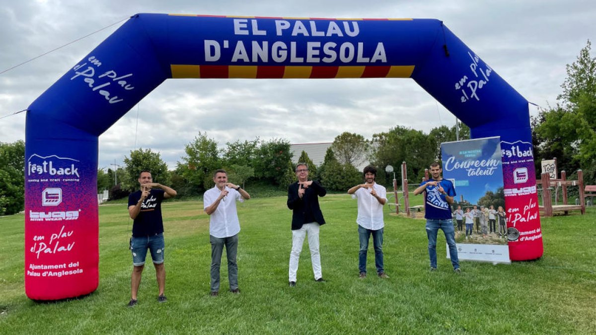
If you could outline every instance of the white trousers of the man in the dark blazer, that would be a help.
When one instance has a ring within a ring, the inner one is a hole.
[[[302,243],[308,234],[308,247],[311,249],[312,272],[315,280],[323,277],[321,273],[321,255],[319,254],[319,224],[311,222],[303,224],[302,228],[292,231],[292,251],[290,252],[290,281],[296,281],[298,260],[302,251]]]

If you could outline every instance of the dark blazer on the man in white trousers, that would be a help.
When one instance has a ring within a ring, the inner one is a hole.
[[[288,208],[293,210],[292,213],[292,230],[302,228],[305,222],[305,213],[311,212],[315,217],[315,221],[319,225],[325,224],[325,218],[321,213],[321,207],[319,207],[319,198],[324,197],[327,194],[327,190],[321,186],[317,181],[312,181],[311,186],[306,188],[302,199],[298,196],[298,182],[290,184],[288,187]]]

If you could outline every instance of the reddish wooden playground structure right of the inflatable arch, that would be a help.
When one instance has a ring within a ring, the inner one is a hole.
[[[541,173],[541,179],[536,180],[536,185],[541,185],[542,190],[542,205],[538,208],[541,210],[543,216],[553,216],[555,212],[563,212],[565,215],[569,214],[570,210],[579,210],[582,215],[586,213],[585,205],[585,188],[583,185],[583,172],[578,170],[577,180],[567,180],[567,173],[561,171],[561,178],[551,179],[548,172]],[[578,187],[579,198],[576,204],[569,204],[567,197],[567,187]],[[561,188],[561,198],[563,204],[557,204],[558,201],[558,190]],[[588,188],[589,189],[589,188]],[[555,204],[552,204],[552,191],[555,191],[554,199]],[[588,194],[590,196],[590,194]]]

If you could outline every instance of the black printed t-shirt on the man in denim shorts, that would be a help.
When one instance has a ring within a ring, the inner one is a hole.
[[[134,237],[161,234],[163,232],[162,201],[163,190],[151,190],[149,196],[141,204],[141,212],[132,224]],[[141,191],[136,191],[128,196],[128,206],[135,206],[141,200]]]

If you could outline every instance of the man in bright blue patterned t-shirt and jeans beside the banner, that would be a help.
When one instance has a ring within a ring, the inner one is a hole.
[[[457,258],[457,247],[455,246],[455,229],[449,205],[453,203],[455,188],[453,183],[443,179],[439,163],[433,162],[430,165],[430,178],[423,181],[414,190],[414,196],[426,193],[424,199],[424,218],[426,218],[426,234],[429,237],[429,258],[430,271],[437,269],[437,232],[442,229],[445,240],[449,246],[449,255],[455,272],[460,272],[460,262]]]

